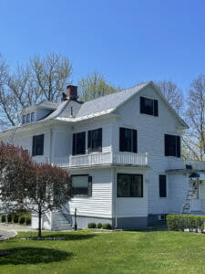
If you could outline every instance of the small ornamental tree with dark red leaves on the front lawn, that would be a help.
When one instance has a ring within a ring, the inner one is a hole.
[[[67,171],[47,163],[35,163],[23,148],[0,144],[1,200],[5,209],[26,209],[41,219],[48,210],[65,205],[72,195]]]

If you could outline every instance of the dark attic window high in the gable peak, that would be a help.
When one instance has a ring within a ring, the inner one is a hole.
[[[140,97],[140,113],[159,116],[158,100]]]

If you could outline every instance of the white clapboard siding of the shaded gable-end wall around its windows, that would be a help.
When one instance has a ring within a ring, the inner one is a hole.
[[[119,135],[119,127],[133,128],[138,131],[138,153],[148,153],[149,166],[151,167],[148,173],[149,214],[166,213],[169,210],[169,199],[159,198],[159,174],[165,174],[171,164],[177,163],[178,166],[182,166],[182,159],[165,157],[164,134],[180,135],[181,132],[177,128],[180,124],[155,90],[148,87],[143,90],[141,96],[159,100],[159,117],[139,113],[140,94],[122,105],[117,111],[121,118],[113,121],[113,150],[118,150],[119,144],[116,136]],[[172,203],[175,205],[174,196]],[[177,207],[179,208],[176,205]]]

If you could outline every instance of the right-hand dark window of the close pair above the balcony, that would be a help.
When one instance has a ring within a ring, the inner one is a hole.
[[[102,152],[102,129],[88,131],[87,153]]]

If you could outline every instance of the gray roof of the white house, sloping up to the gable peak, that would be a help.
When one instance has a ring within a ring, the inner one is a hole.
[[[42,119],[42,121],[47,121],[51,119],[56,119],[60,121],[87,120],[92,117],[105,115],[107,113],[111,113],[115,111],[121,104],[131,99],[140,90],[149,86],[149,84],[152,85],[155,88],[155,90],[159,92],[159,95],[161,96],[163,100],[165,100],[165,102],[169,106],[169,109],[173,111],[174,115],[179,119],[179,121],[182,122],[183,127],[188,128],[187,124],[179,117],[176,111],[173,110],[169,102],[163,97],[160,90],[158,90],[158,88],[153,84],[153,82],[140,84],[128,90],[121,90],[121,91],[103,96],[101,98],[97,98],[95,100],[89,100],[85,103],[74,101],[74,100],[65,100],[62,102],[52,102],[52,101],[43,100],[39,102],[38,104],[36,104],[36,107],[53,110],[52,113],[46,116],[46,118]],[[73,115],[71,115],[71,109],[72,109]],[[30,125],[30,124],[32,123],[21,125],[20,127],[26,127],[27,125]]]

